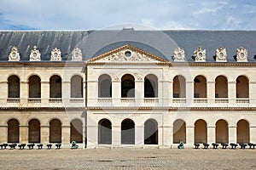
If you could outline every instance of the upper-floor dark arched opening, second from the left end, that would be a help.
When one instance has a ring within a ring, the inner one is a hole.
[[[38,76],[32,76],[28,79],[29,98],[41,98],[41,80]]]

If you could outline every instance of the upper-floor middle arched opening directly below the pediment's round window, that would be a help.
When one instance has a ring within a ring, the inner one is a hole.
[[[121,97],[134,98],[135,97],[135,79],[130,74],[126,74],[121,79]]]

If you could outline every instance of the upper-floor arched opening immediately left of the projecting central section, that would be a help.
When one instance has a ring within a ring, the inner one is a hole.
[[[75,75],[71,78],[71,98],[83,98],[83,78]]]

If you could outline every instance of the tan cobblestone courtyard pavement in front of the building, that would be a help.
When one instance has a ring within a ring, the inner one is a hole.
[[[256,169],[255,150],[0,150],[0,169]]]

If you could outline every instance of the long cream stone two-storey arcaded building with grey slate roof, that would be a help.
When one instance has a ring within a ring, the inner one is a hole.
[[[256,143],[256,31],[0,31],[0,143]]]

